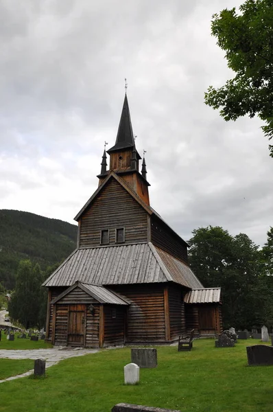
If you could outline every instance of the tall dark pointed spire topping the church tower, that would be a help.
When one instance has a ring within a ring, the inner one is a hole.
[[[117,150],[129,149],[134,147],[134,135],[132,133],[132,124],[128,105],[127,95],[125,95],[121,119],[119,121],[119,130],[117,130],[117,139],[115,146],[112,146],[107,153]]]

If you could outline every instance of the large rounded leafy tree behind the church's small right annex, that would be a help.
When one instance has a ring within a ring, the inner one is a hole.
[[[222,288],[225,328],[269,321],[261,255],[248,236],[233,237],[222,227],[209,226],[195,229],[189,244],[189,262],[202,284]]]

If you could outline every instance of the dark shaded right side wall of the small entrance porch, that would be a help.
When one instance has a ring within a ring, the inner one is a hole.
[[[113,313],[115,312],[115,318]],[[124,318],[126,309],[121,306],[104,306],[104,346],[124,344]]]

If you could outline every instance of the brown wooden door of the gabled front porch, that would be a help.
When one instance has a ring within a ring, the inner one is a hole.
[[[69,305],[67,345],[84,346],[86,305]]]

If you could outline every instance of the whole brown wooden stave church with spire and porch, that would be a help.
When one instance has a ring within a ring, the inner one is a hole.
[[[147,169],[125,95],[99,187],[80,210],[77,249],[49,276],[46,339],[54,345],[166,344],[222,331],[220,288],[189,268],[188,244],[150,207]]]

